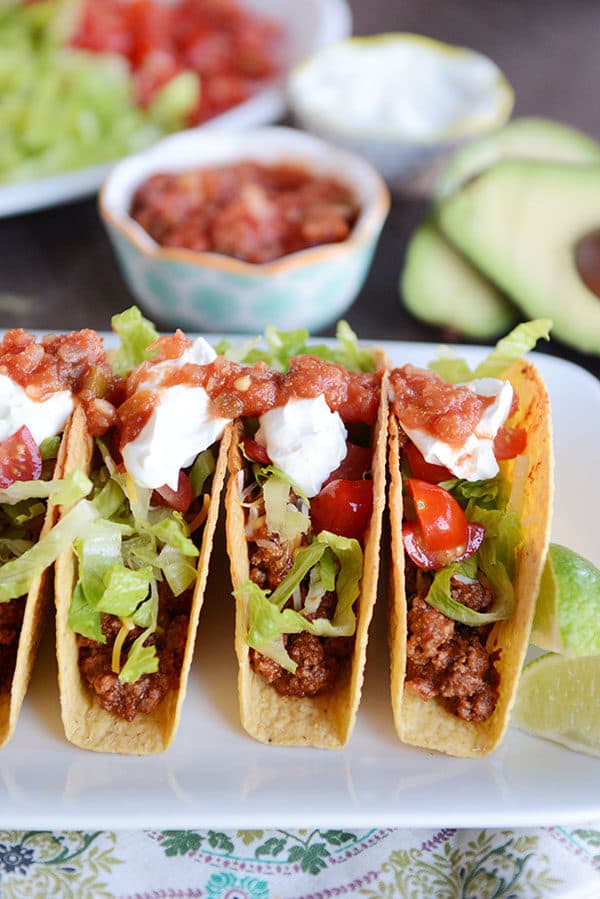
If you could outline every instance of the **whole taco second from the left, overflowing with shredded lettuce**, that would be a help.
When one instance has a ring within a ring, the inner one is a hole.
[[[87,526],[56,563],[57,656],[67,738],[142,755],[177,730],[230,426],[198,383],[215,356],[202,338],[158,338],[135,308],[113,327],[116,424],[94,439],[76,410],[69,433],[66,471],[93,487],[78,504]]]

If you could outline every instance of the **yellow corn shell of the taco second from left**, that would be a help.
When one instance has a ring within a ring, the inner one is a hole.
[[[231,428],[227,428],[221,440],[213,474],[210,505],[198,557],[198,576],[194,587],[179,687],[176,691],[170,691],[151,715],[140,713],[133,721],[125,721],[101,708],[92,692],[88,690],[79,673],[77,638],[68,623],[71,597],[77,580],[77,560],[74,552],[69,550],[63,553],[56,562],[56,652],[61,714],[67,739],[82,749],[147,755],[167,749],[175,737],[185,698],[200,610],[204,600],[230,440]],[[80,468],[89,473],[92,451],[93,441],[87,431],[85,416],[81,410],[76,410],[72,430],[69,434],[66,471]]]

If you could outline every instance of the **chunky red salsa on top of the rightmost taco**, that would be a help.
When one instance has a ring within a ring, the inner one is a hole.
[[[451,446],[460,446],[475,431],[494,397],[448,384],[434,372],[413,365],[390,375],[394,411],[407,428],[427,431]]]

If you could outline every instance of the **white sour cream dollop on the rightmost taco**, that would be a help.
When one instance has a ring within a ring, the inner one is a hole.
[[[460,386],[468,387],[480,396],[495,398],[485,409],[474,432],[460,446],[437,440],[420,428],[407,427],[401,416],[398,417],[400,424],[426,462],[444,465],[455,477],[467,481],[493,478],[499,471],[494,455],[494,437],[508,418],[513,397],[512,385],[498,378],[476,378]]]

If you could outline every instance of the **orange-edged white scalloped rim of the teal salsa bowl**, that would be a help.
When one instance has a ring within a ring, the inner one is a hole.
[[[239,147],[233,145],[237,143]],[[194,159],[196,154],[201,159]],[[178,157],[175,159],[175,157]],[[321,244],[289,253],[272,262],[244,262],[221,253],[195,252],[162,247],[129,215],[137,187],[158,172],[177,172],[224,165],[234,161],[285,161],[305,165],[312,171],[335,175],[355,194],[361,206],[359,217],[346,240]],[[340,171],[343,174],[340,175]],[[280,274],[282,271],[321,262],[345,254],[376,236],[390,206],[390,195],[378,172],[354,153],[339,149],[321,138],[294,128],[266,126],[244,132],[180,132],[135,156],[119,162],[105,180],[99,197],[104,222],[116,229],[146,258],[186,263],[201,268],[247,276]]]

